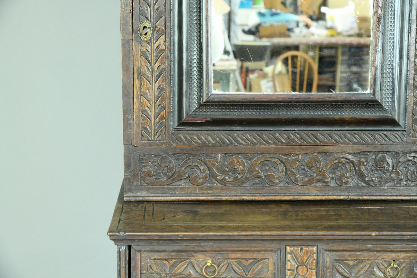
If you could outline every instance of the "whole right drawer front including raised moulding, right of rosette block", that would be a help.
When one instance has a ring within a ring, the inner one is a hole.
[[[322,278],[417,277],[416,246],[363,247],[356,251],[323,250]]]

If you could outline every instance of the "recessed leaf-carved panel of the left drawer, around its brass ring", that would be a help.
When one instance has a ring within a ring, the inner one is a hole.
[[[207,260],[203,259],[149,259],[148,278],[206,278],[203,267]],[[216,278],[267,278],[268,259],[219,259],[214,260],[218,272]],[[209,273],[206,268],[206,273]]]

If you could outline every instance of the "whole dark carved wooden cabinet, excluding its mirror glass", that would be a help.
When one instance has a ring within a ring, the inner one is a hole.
[[[214,93],[210,0],[121,0],[123,278],[417,277],[416,0],[366,93]]]

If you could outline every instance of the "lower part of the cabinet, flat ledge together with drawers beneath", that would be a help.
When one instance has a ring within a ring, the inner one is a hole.
[[[123,191],[122,191],[123,192]],[[126,202],[108,231],[131,278],[416,276],[413,201]]]

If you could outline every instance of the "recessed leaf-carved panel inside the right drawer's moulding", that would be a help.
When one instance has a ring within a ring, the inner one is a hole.
[[[334,260],[333,267],[334,278],[387,278],[396,277],[398,270],[391,268],[389,273],[387,269],[393,260]],[[402,278],[412,278],[417,276],[416,260],[395,260],[399,267]]]

